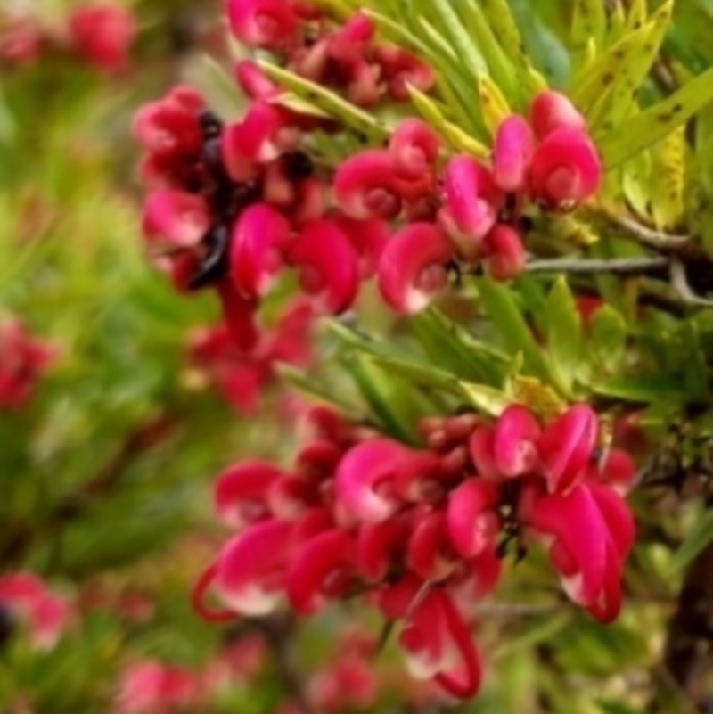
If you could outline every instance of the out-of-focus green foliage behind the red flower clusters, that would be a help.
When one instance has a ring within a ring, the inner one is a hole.
[[[61,357],[28,408],[0,414],[0,569],[37,571],[78,603],[68,635],[52,652],[13,642],[0,654],[0,710],[12,714],[106,711],[119,673],[132,661],[190,668],[213,658],[225,630],[197,620],[186,595],[221,536],[211,515],[211,479],[246,453],[289,453],[296,436],[275,415],[274,391],[258,415],[243,418],[187,365],[189,330],[216,320],[217,306],[206,296],[178,298],[145,259],[139,239],[137,152],[129,135],[136,107],[190,81],[219,110],[239,109],[226,102],[205,60],[209,54],[225,61],[220,8],[187,0],[127,4],[141,32],[131,67],[119,76],[107,78],[66,58],[2,72],[0,311],[21,316],[60,347]],[[578,38],[570,33],[576,4],[512,0],[532,61],[554,86],[567,86],[577,62]],[[635,3],[624,5],[631,11]],[[650,5],[653,11],[659,4]],[[31,6],[53,22],[70,4]],[[711,31],[713,3],[680,0],[663,43],[663,69],[680,78],[707,69]],[[644,105],[660,96],[660,82],[656,71],[644,82]],[[699,160],[701,176],[709,176],[711,153],[701,152]],[[705,198],[704,192],[694,203],[698,213],[689,211],[672,227],[700,221],[705,234]],[[543,295],[544,288],[530,286],[525,294]],[[652,434],[664,445],[693,429],[684,455],[693,463],[701,458],[701,439],[709,448],[713,311],[634,325],[624,299],[615,295],[621,324],[615,316],[613,327],[602,325],[588,349],[611,358],[626,335],[650,356],[666,358],[651,357],[655,379],[612,381],[599,397],[623,394],[633,404],[660,406]],[[566,337],[555,331],[554,340]],[[668,410],[671,394],[684,396]],[[684,407],[693,403],[696,417],[682,422]],[[685,560],[680,544],[701,519],[709,522],[701,510],[708,486],[687,476],[677,490],[635,497],[641,542],[627,570],[627,608],[611,627],[556,595],[544,562],[509,563],[516,577],[497,602],[482,606],[485,693],[459,710],[695,710],[664,666],[667,623],[683,578],[676,567]],[[91,607],[96,593],[110,603],[140,595],[153,603],[151,615],[137,623],[115,606]],[[378,630],[348,609],[301,627],[291,643],[301,675],[328,658],[340,628],[355,623]],[[276,649],[273,643],[273,654]],[[374,666],[389,666],[389,656]],[[271,662],[255,683],[236,681],[200,710],[276,710],[289,693],[279,652]],[[380,710],[406,711],[406,705],[392,692]]]

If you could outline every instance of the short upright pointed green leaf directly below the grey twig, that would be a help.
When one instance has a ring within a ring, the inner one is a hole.
[[[567,279],[555,280],[547,296],[547,347],[561,382],[571,390],[583,365],[584,332],[574,296]]]

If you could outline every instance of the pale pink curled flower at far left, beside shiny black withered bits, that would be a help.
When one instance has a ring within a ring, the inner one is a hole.
[[[158,189],[143,205],[143,234],[157,247],[193,248],[208,233],[210,222],[208,203],[195,193]]]

